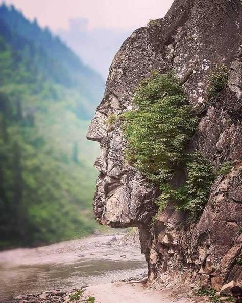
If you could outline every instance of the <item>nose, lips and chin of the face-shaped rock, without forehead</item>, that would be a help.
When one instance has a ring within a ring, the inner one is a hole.
[[[120,122],[104,123],[103,113],[96,113],[87,134],[99,141],[101,152],[94,166],[100,172],[96,182],[94,215],[99,223],[111,227],[147,225],[154,215],[156,189],[125,161],[125,140]]]

